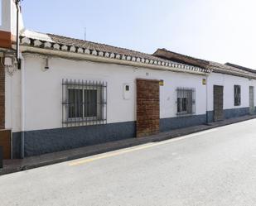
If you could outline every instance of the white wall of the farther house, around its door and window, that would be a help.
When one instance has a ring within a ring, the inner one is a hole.
[[[256,103],[256,81],[227,74],[210,74],[208,77],[208,111],[213,111],[213,87],[214,85],[224,86],[224,109],[248,108],[249,107],[249,86],[254,86],[254,103]],[[234,106],[234,85],[241,86],[241,105]],[[256,105],[255,105],[256,106]]]

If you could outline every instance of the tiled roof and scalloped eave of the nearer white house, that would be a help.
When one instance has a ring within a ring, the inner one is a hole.
[[[196,65],[190,65],[190,64],[186,64],[186,62],[182,63],[179,61],[175,61],[175,60],[167,60],[165,58],[162,57],[157,57],[156,55],[149,55],[143,52],[139,52],[136,50],[128,50],[128,49],[124,49],[124,48],[120,48],[117,46],[109,46],[109,45],[105,45],[105,44],[100,44],[100,43],[95,43],[92,41],[83,41],[83,40],[79,40],[79,39],[75,39],[75,38],[70,38],[70,37],[65,37],[65,36],[58,36],[58,35],[53,35],[53,34],[44,34],[44,33],[39,33],[36,31],[23,31],[22,35],[21,35],[21,39],[27,39],[24,42],[28,42],[28,44],[30,46],[34,46],[34,42],[35,41],[39,41],[40,44],[36,44],[36,47],[41,47],[44,48],[46,42],[49,42],[49,44],[51,45],[51,48],[47,48],[47,49],[53,49],[53,44],[58,44],[60,45],[60,49],[62,48],[62,46],[68,46],[67,49],[65,50],[70,50],[69,47],[71,46],[75,46],[77,49],[82,48],[84,50],[89,50],[86,51],[86,54],[89,55],[94,55],[94,50],[96,50],[97,52],[104,52],[104,53],[109,53],[110,58],[112,58],[113,56],[111,56],[112,53],[114,53],[114,58],[117,58],[117,55],[119,55],[118,59],[120,57],[122,57],[122,60],[128,60],[130,61],[131,59],[138,62],[142,62],[145,63],[145,65],[161,65],[161,66],[167,66],[167,67],[173,67],[176,68],[177,71],[178,70],[191,70],[193,72],[200,72],[201,74],[204,73],[210,73],[209,69],[205,69],[203,67],[200,66],[196,66]],[[41,44],[43,43],[43,44]],[[72,51],[74,52],[78,52],[78,50],[74,50],[74,48],[72,48]],[[99,53],[97,54],[99,55]],[[109,57],[108,55],[108,57]],[[123,56],[125,58],[123,58]],[[128,58],[130,57],[130,58]],[[143,60],[142,60],[143,59]]]

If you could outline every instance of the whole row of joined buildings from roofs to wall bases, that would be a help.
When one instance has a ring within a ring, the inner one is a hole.
[[[28,31],[2,1],[0,145],[36,156],[254,114],[256,74],[159,49],[153,55]]]

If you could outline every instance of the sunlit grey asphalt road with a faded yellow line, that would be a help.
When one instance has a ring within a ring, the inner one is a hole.
[[[0,205],[256,205],[256,120],[0,177]]]

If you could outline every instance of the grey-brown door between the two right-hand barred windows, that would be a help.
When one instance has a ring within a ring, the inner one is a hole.
[[[223,86],[214,85],[214,119],[215,122],[224,119]]]

